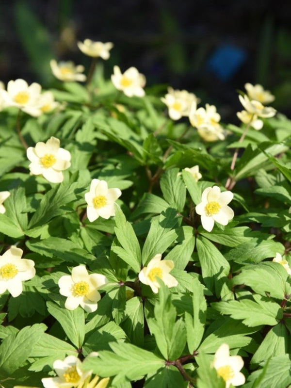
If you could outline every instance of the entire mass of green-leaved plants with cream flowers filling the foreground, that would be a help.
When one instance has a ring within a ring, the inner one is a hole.
[[[78,46],[87,77],[0,91],[0,385],[288,387],[291,121],[246,83],[221,123]]]

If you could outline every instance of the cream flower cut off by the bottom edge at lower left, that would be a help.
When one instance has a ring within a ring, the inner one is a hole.
[[[92,374],[91,371],[81,370],[81,360],[75,356],[67,356],[64,361],[56,360],[53,369],[58,377],[47,377],[41,379],[45,388],[71,388],[77,387]]]

